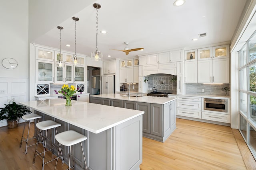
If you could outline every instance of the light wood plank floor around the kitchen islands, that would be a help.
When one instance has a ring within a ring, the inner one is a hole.
[[[243,160],[232,132],[234,129],[186,119],[176,120],[177,128],[165,143],[143,137],[143,162],[140,170],[246,170],[246,167],[248,170],[256,169],[255,160],[249,159],[252,157],[250,152],[243,153],[244,158],[250,160],[250,166],[244,163],[248,161]],[[29,147],[26,155],[25,145],[19,148],[22,130],[22,124],[15,129],[0,128],[1,170],[42,169],[42,158],[37,157],[35,164],[32,164],[35,146]],[[240,139],[239,143],[242,143]],[[48,152],[47,158],[51,156]],[[54,166],[55,161],[46,164],[45,170],[52,170]],[[67,166],[61,163],[57,167],[58,170],[66,168]]]

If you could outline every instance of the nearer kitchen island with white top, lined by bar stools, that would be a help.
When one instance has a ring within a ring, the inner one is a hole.
[[[139,170],[142,163],[142,114],[118,107],[72,101],[65,99],[20,102],[42,115],[42,120],[61,124],[58,133],[75,130],[88,137],[83,143],[87,165],[91,170]],[[45,136],[45,134],[43,133]],[[50,136],[50,135],[48,135]],[[55,136],[55,133],[52,134]],[[49,138],[50,139],[50,138]],[[52,141],[58,151],[58,142]],[[48,147],[51,147],[50,145]],[[84,166],[80,146],[75,146],[75,159]],[[68,147],[62,146],[64,161],[68,162]],[[76,166],[80,169],[80,166]]]

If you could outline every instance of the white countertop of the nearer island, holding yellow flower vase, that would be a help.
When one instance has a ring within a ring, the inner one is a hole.
[[[100,133],[144,114],[144,111],[75,100],[72,100],[72,106],[65,106],[66,99],[36,100],[20,104],[92,133]]]

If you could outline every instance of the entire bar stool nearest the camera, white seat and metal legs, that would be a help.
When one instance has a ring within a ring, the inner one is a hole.
[[[74,161],[74,153],[73,153],[73,147],[72,146],[80,142],[81,148],[82,148],[82,152],[83,152],[83,156],[84,156],[84,150],[83,150],[83,147],[82,147],[82,141],[85,141],[87,139],[87,137],[82,135],[82,134],[80,134],[80,133],[77,133],[76,131],[70,130],[70,131],[65,131],[65,132],[62,132],[62,133],[59,133],[59,134],[55,135],[55,139],[59,142],[60,147],[61,147],[61,145],[65,145],[65,146],[69,146],[70,147],[68,170],[71,167],[74,168],[74,162],[75,161]],[[61,152],[60,147],[59,147],[59,151],[58,151],[58,156],[59,156],[59,153]],[[72,157],[73,157],[73,166],[70,167],[71,149],[72,149]],[[58,162],[58,159],[56,161],[55,169],[56,169],[56,166],[57,166],[57,162]],[[85,162],[85,168],[87,170],[87,165],[86,165],[85,157],[84,157],[84,162]]]

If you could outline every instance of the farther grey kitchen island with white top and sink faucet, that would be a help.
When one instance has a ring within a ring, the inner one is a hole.
[[[176,98],[100,94],[90,96],[90,102],[144,111],[143,136],[156,141],[164,142],[176,129]]]

